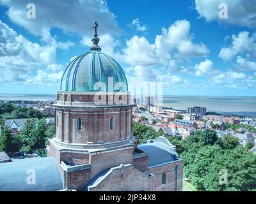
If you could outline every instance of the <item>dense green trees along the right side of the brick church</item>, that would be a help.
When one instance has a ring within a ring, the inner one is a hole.
[[[133,123],[132,127],[140,143],[163,135],[142,124]],[[199,191],[256,191],[256,155],[246,152],[237,138],[218,138],[216,131],[207,129],[186,140],[175,136],[168,140],[183,159],[184,176]]]

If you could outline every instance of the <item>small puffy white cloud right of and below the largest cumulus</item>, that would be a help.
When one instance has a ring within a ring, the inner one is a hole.
[[[214,68],[214,64],[212,63],[212,61],[209,59],[205,59],[205,61],[196,64],[195,70],[196,76],[216,75],[219,73],[219,71]]]

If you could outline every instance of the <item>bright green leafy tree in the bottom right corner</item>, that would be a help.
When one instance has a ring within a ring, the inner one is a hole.
[[[204,177],[204,189],[205,191],[255,191],[256,156],[250,152],[246,153],[244,148],[239,146],[216,152]]]

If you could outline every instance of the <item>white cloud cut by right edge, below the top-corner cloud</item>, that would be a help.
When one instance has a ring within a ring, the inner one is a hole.
[[[232,43],[229,47],[221,48],[219,57],[225,61],[230,61],[237,54],[244,52],[252,53],[256,56],[256,34],[249,36],[249,32],[240,32],[237,36],[232,35]]]

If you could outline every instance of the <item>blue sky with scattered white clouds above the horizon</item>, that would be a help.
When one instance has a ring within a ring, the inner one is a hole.
[[[256,0],[0,0],[0,93],[59,91],[95,21],[102,52],[129,83],[163,82],[164,95],[256,95]]]

